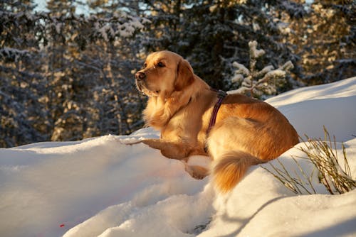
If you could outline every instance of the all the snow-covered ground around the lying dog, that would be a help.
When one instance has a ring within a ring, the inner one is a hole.
[[[344,141],[356,178],[356,77],[267,102],[300,136],[323,137],[325,125]],[[314,179],[318,194],[297,195],[254,166],[232,192],[216,195],[209,177],[192,179],[182,162],[123,144],[158,136],[146,128],[0,149],[0,236],[356,236],[356,190],[329,195]],[[303,153],[292,148],[278,160],[298,170],[291,155]]]

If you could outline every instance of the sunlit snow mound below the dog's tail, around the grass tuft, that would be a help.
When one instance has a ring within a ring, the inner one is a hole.
[[[355,179],[356,138],[346,145]],[[292,148],[278,159],[288,171],[298,171],[291,155],[302,154]],[[313,172],[310,163],[296,160],[305,172]],[[278,167],[277,160],[271,164]],[[273,171],[270,164],[262,166]],[[214,200],[214,220],[199,236],[355,236],[356,189],[329,195],[318,179],[313,185],[324,194],[295,195],[262,167],[253,167],[231,194]]]

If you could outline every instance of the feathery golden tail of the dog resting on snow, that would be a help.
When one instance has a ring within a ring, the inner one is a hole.
[[[216,189],[221,193],[229,192],[244,177],[251,165],[257,165],[265,160],[243,151],[230,151],[218,158],[214,158],[212,177]]]

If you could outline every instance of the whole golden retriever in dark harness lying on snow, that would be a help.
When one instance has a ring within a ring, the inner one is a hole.
[[[161,133],[159,139],[142,143],[185,162],[192,155],[210,157],[211,170],[196,166],[188,170],[197,178],[211,172],[221,193],[229,192],[251,165],[273,160],[299,142],[280,111],[243,94],[211,89],[176,53],[148,55],[135,82],[148,97],[146,125]]]

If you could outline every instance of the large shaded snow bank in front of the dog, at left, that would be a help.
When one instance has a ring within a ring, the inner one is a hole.
[[[60,236],[108,206],[125,203],[119,206],[135,211],[204,188],[206,182],[187,175],[182,162],[143,144],[120,143],[141,136],[157,135],[146,129],[130,138],[103,136],[1,149],[0,232]],[[128,216],[119,212],[116,217],[126,221]]]

